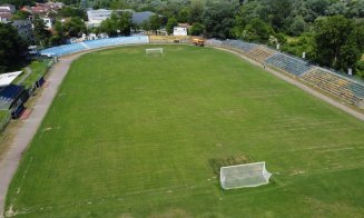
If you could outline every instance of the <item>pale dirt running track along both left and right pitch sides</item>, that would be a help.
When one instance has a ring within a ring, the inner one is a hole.
[[[226,49],[223,49],[223,50],[226,50]],[[237,52],[230,51],[230,50],[226,50],[226,51],[235,53],[235,54],[250,61],[254,65],[262,66],[250,59],[247,59],[246,57],[242,56],[240,53],[237,53]],[[86,52],[90,52],[90,51],[86,51]],[[36,100],[36,105],[33,107],[31,115],[29,116],[29,118],[27,120],[23,121],[21,127],[17,130],[17,137],[12,140],[9,150],[3,156],[3,159],[0,160],[0,217],[3,217],[4,199],[7,196],[7,190],[8,190],[8,187],[10,185],[10,181],[11,181],[13,175],[17,171],[22,152],[27,149],[27,146],[31,141],[31,139],[32,139],[33,135],[36,133],[37,129],[39,128],[43,117],[46,116],[55,96],[57,95],[59,86],[61,85],[65,76],[67,75],[68,69],[70,68],[71,62],[86,52],[60,58],[59,62],[52,67],[52,69],[49,72],[49,77],[47,79],[49,81],[49,86],[42,91],[41,96],[38,97],[38,99]],[[283,73],[279,73],[272,69],[266,69],[266,70],[268,72],[275,75],[276,77],[312,93],[313,96],[315,96],[317,98],[321,98],[322,100],[331,103],[332,106],[335,106],[336,108],[344,110],[347,113],[364,121],[363,113],[360,113],[360,112],[308,88],[307,86],[286,77]]]

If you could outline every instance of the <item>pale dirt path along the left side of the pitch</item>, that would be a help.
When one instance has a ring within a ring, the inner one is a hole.
[[[7,153],[4,153],[3,159],[0,160],[0,217],[3,216],[7,190],[13,175],[17,171],[22,152],[27,149],[28,143],[31,141],[43,117],[46,116],[48,108],[50,107],[58,91],[59,85],[62,82],[70,67],[70,63],[79,56],[80,54],[75,54],[61,58],[60,61],[52,67],[47,79],[49,81],[49,86],[37,99],[31,115],[17,130],[17,137],[11,142],[10,149]]]

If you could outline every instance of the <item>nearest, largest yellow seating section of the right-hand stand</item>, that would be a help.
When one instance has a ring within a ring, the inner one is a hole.
[[[348,78],[333,73],[322,68],[314,68],[302,78],[332,95],[345,99],[352,103],[357,103],[364,99],[364,86],[350,80]]]

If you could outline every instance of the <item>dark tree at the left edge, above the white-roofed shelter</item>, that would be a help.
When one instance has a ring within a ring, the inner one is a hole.
[[[26,50],[27,44],[17,30],[0,22],[0,73],[6,72],[11,63],[19,61]]]

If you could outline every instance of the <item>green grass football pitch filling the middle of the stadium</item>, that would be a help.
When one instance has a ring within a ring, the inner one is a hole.
[[[150,47],[150,46],[149,46]],[[364,122],[232,53],[75,61],[7,197],[19,217],[360,217]],[[224,191],[214,162],[266,161]]]

